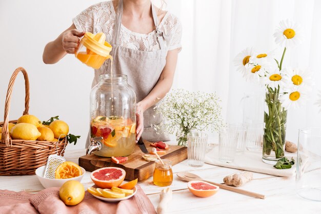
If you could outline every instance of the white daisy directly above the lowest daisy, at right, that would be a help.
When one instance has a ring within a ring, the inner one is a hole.
[[[308,69],[303,70],[299,68],[294,68],[294,69],[287,68],[287,69],[284,69],[284,72],[286,74],[284,79],[288,83],[287,84],[288,88],[291,88],[293,86],[304,86],[311,89],[313,85],[313,81],[312,81],[312,73],[310,70]]]

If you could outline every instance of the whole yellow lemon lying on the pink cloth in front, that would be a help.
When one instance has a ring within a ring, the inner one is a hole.
[[[66,205],[77,205],[85,197],[84,186],[79,181],[67,181],[59,189],[59,197]]]

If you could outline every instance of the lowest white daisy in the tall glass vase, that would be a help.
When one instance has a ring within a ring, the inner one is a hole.
[[[286,110],[292,107],[296,109],[306,103],[308,94],[307,89],[304,87],[293,87],[287,93],[282,94],[279,100]]]

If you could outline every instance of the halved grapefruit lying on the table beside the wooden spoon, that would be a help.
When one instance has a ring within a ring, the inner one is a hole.
[[[187,184],[188,189],[197,197],[210,197],[215,194],[219,187],[204,181],[190,181]]]

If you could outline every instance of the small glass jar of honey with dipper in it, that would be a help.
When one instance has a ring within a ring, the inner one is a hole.
[[[155,161],[155,169],[153,174],[153,182],[156,186],[169,186],[173,183],[173,171],[172,162],[170,160],[163,159]]]

